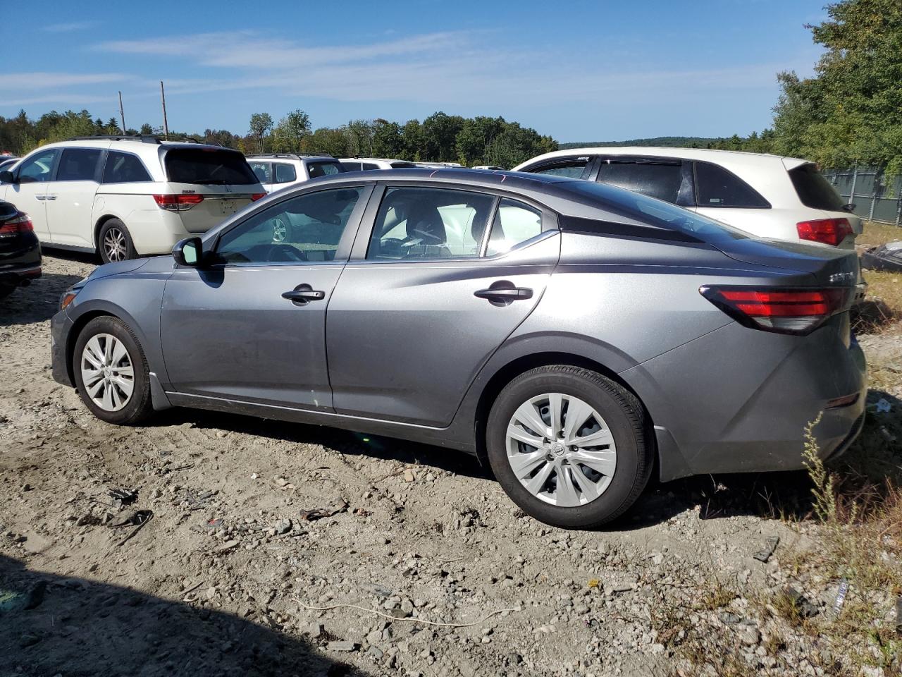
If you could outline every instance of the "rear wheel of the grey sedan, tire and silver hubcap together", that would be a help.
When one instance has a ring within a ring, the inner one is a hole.
[[[492,471],[514,503],[547,524],[600,526],[649,481],[653,448],[638,398],[575,366],[541,366],[498,395],[486,428]]]

